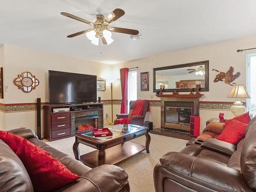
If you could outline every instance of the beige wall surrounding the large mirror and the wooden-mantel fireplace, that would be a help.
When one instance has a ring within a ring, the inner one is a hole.
[[[255,47],[255,45],[256,36],[250,36],[120,63],[114,66],[113,71],[115,75],[118,76],[120,68],[132,68],[138,66],[137,79],[140,79],[140,72],[148,71],[150,75],[150,91],[141,92],[139,86],[140,82],[138,80],[138,98],[159,100],[159,98],[155,96],[155,93],[153,93],[153,68],[209,60],[209,92],[202,92],[204,97],[201,98],[201,100],[232,102],[234,99],[227,98],[227,95],[231,90],[231,86],[223,82],[214,83],[213,80],[217,72],[211,70],[217,69],[226,72],[230,66],[233,66],[235,72],[241,72],[241,76],[236,80],[236,82],[246,84],[246,53],[248,52],[245,51],[242,53],[237,53],[237,50]],[[119,89],[115,89],[115,98],[121,98],[120,93],[121,92]],[[224,113],[226,118],[233,117],[230,111],[224,111]],[[155,127],[160,126],[159,114],[160,108],[151,108],[151,114],[148,116],[148,118],[154,122]],[[200,110],[201,130],[205,126],[206,120],[209,118],[218,118],[218,114],[219,110]]]

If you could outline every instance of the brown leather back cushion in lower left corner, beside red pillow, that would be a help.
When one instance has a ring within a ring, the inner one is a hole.
[[[28,172],[11,148],[0,139],[0,191],[34,191]]]

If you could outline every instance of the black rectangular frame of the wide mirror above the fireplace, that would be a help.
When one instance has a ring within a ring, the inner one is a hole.
[[[184,67],[191,67],[191,66],[199,66],[204,65],[205,66],[205,76],[204,76],[204,88],[200,88],[200,91],[209,91],[209,60],[205,61],[199,61],[199,62],[190,62],[185,63],[181,65],[175,65],[175,66],[166,66],[166,67],[160,67],[160,68],[153,68],[153,92],[157,92],[159,90],[156,89],[156,71],[165,70],[165,69],[176,69],[176,68],[184,68]],[[164,89],[163,92],[189,92],[189,88],[186,89]],[[194,89],[196,91],[196,89]]]

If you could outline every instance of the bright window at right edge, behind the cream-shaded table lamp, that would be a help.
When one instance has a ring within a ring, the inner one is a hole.
[[[246,90],[251,98],[246,100],[247,111],[252,116],[256,115],[256,53],[247,54],[246,65]]]

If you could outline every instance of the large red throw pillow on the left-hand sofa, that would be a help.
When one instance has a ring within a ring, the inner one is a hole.
[[[23,162],[35,191],[53,191],[79,177],[42,148],[27,139],[0,131],[2,139]]]

